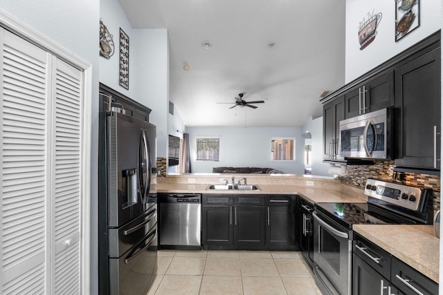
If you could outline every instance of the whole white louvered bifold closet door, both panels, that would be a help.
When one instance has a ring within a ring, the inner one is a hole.
[[[80,70],[0,28],[1,294],[80,294]]]

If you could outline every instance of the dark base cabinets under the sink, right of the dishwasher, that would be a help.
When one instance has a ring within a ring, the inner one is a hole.
[[[204,249],[295,249],[292,196],[203,196]]]

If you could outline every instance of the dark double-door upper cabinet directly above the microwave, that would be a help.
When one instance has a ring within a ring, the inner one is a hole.
[[[394,72],[370,78],[345,93],[345,119],[394,106]]]

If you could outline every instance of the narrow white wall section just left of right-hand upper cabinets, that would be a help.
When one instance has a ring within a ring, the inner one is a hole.
[[[333,176],[327,171],[329,164],[323,163],[323,117],[310,120],[302,127],[302,133],[309,131],[312,141],[312,175]]]

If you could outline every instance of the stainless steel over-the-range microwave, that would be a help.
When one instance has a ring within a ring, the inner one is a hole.
[[[340,121],[340,155],[343,158],[392,158],[392,108]]]

